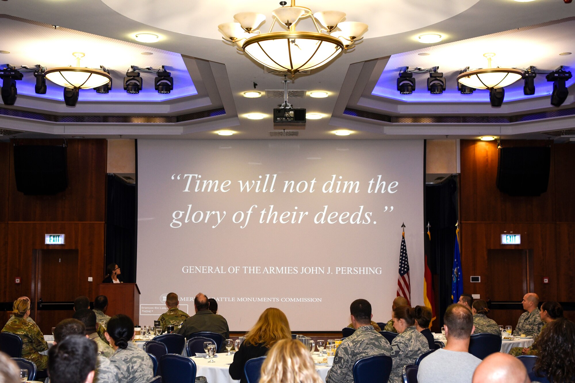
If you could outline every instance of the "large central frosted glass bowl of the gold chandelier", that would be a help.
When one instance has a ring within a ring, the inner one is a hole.
[[[266,67],[294,75],[327,64],[342,51],[343,44],[322,33],[273,32],[248,38],[243,48]]]

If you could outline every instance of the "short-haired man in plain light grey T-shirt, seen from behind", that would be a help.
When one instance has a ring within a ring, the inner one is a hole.
[[[476,301],[477,302],[477,301]],[[443,316],[447,344],[427,355],[417,370],[418,383],[471,383],[481,359],[469,353],[473,316],[462,304],[447,307]]]

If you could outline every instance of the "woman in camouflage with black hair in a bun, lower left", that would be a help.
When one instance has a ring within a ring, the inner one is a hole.
[[[131,340],[134,338],[134,322],[129,316],[118,314],[108,321],[106,338],[114,349],[110,357],[112,365],[120,371],[122,383],[147,383],[154,377],[152,359]]]

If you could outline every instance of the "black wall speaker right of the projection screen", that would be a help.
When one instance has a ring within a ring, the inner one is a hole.
[[[497,188],[509,196],[540,196],[547,192],[550,165],[550,147],[503,147],[499,150]]]

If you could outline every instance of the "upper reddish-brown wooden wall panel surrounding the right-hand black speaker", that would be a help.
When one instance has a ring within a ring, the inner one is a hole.
[[[505,146],[548,144],[543,140],[505,141]],[[496,186],[497,142],[461,140],[461,221],[554,222],[555,178],[553,147],[547,192],[540,197],[511,197]]]

